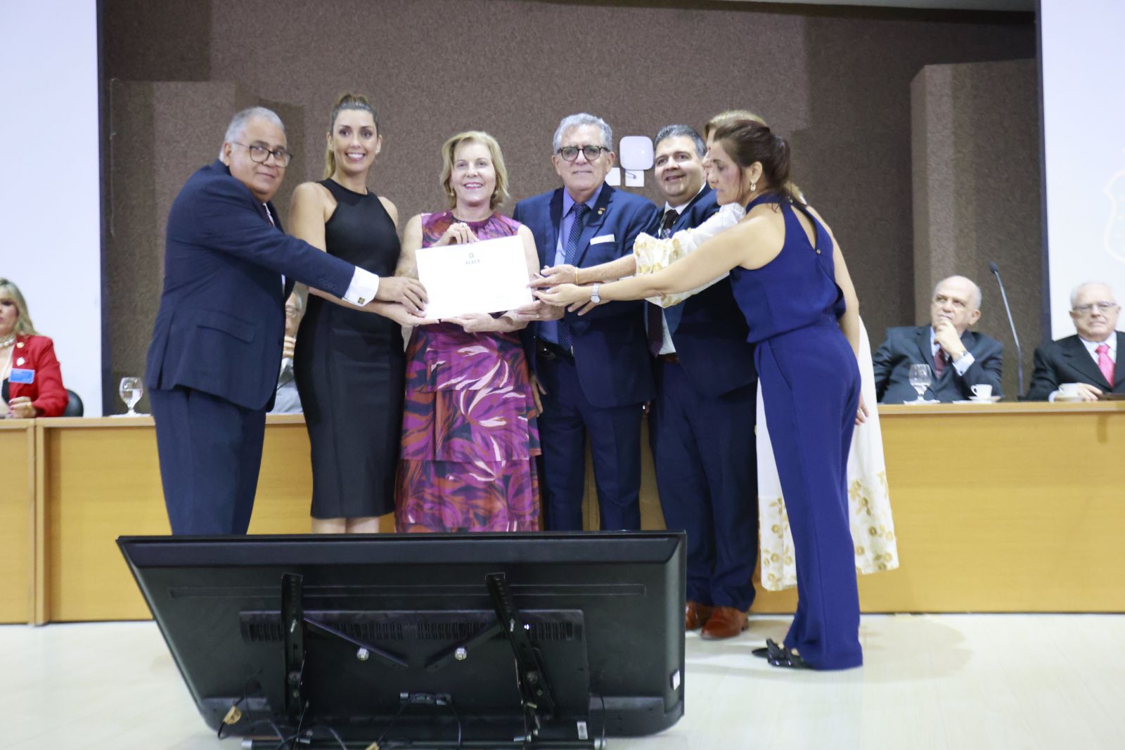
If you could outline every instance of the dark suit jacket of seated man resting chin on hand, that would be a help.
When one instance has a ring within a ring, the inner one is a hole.
[[[965,331],[961,336],[975,360],[958,376],[953,364],[946,364],[942,377],[926,391],[926,398],[939,401],[960,401],[971,398],[972,387],[992,386],[992,395],[1001,396],[1000,369],[1004,363],[1004,344],[982,333]],[[875,392],[880,404],[902,404],[918,398],[918,391],[910,385],[910,365],[934,367],[934,353],[929,345],[929,326],[906,326],[888,328],[886,341],[872,358],[875,369]]]

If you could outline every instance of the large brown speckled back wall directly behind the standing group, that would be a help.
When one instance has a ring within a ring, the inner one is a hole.
[[[272,102],[298,154],[277,199],[282,216],[294,187],[321,178],[328,109],[343,90],[368,93],[380,111],[386,144],[371,187],[397,204],[403,222],[443,206],[438,150],[462,129],[500,139],[519,199],[559,184],[550,141],[565,115],[600,115],[620,137],[754,109],[790,138],[793,177],[847,253],[873,340],[914,314],[911,80],[927,64],[1035,54],[1034,26],[1018,15],[734,2],[226,0],[178,6],[189,13],[182,33],[160,42],[169,20],[144,4],[105,0],[107,78],[205,75]],[[205,144],[183,139],[174,155],[153,152],[152,163],[138,160],[133,169],[165,173],[158,162],[173,156],[206,163],[222,139],[219,119],[216,112],[209,139],[200,134]],[[151,179],[136,174],[137,184]],[[639,192],[657,199],[651,172]],[[170,198],[155,200],[148,210],[166,215]],[[115,197],[111,210],[120,222],[129,208]],[[135,240],[163,242],[155,234]],[[137,361],[146,344],[147,333],[115,337],[115,369],[119,356]]]

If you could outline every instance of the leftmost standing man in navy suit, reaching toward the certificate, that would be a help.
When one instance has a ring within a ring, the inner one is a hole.
[[[289,160],[278,116],[243,110],[168,217],[145,383],[173,534],[250,525],[294,281],[403,315],[425,299],[417,281],[379,279],[281,232],[270,198]]]

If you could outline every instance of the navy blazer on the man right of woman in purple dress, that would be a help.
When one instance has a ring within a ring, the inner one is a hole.
[[[555,264],[562,190],[525,198],[515,205],[512,218],[528,226],[536,237],[540,265]],[[633,241],[652,222],[652,201],[603,186],[582,231],[575,265],[590,268],[632,252]],[[613,236],[612,242],[591,243]],[[586,315],[566,313],[574,343],[575,368],[586,399],[597,407],[627,406],[651,400],[656,395],[645,336],[645,301],[598,305]],[[536,335],[538,326],[529,326]],[[534,361],[534,358],[531,358]]]

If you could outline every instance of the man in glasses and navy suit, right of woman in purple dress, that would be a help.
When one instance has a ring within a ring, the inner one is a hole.
[[[605,184],[610,126],[593,115],[565,117],[554,151],[562,187],[521,200],[512,215],[534,234],[539,262],[585,268],[631,253],[655,207]],[[602,528],[640,528],[641,407],[655,394],[644,310],[641,301],[610,302],[530,326],[546,390],[539,434],[550,530],[582,530],[587,431]]]

